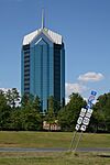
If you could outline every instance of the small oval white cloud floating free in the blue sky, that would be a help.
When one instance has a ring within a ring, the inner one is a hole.
[[[100,73],[89,72],[84,75],[80,75],[78,77],[78,80],[87,82],[87,81],[99,81],[103,78],[105,78],[103,75]]]

